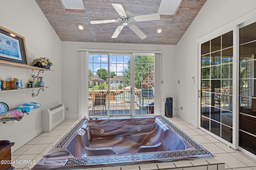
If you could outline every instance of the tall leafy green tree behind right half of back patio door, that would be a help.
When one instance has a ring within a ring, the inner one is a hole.
[[[142,82],[150,76],[150,72],[154,72],[154,56],[135,56],[135,87],[142,88]],[[124,70],[123,76],[124,86],[130,86],[130,59]]]

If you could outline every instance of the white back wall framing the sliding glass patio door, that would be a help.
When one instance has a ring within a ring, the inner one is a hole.
[[[62,41],[62,102],[66,118],[78,118],[78,48],[162,51],[162,100],[175,95],[175,45],[82,43]]]

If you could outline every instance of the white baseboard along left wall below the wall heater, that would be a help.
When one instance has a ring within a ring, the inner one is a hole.
[[[17,141],[14,141],[15,144],[14,144],[14,146],[12,146],[12,152],[19,149],[20,147],[22,147],[23,145],[28,143],[30,140],[34,139],[34,137],[37,137],[42,132],[43,132],[43,127],[40,126],[37,129],[35,129],[34,131],[31,131],[30,133],[21,137]]]

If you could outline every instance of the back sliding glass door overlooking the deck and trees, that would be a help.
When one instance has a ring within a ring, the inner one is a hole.
[[[153,114],[154,55],[89,53],[88,107],[89,115]]]

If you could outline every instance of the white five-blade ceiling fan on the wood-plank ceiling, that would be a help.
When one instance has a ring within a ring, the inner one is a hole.
[[[131,12],[125,11],[121,4],[112,4],[115,8],[116,12],[118,13],[117,20],[99,20],[99,21],[90,21],[91,24],[98,24],[98,23],[113,23],[113,22],[120,22],[122,23],[116,28],[116,31],[113,33],[111,38],[116,38],[124,28],[124,26],[128,25],[134,33],[136,33],[141,39],[145,39],[147,36],[132,22],[138,21],[152,21],[152,20],[159,20],[160,15],[158,13],[154,14],[147,14],[142,16],[133,16]]]

